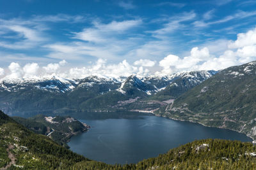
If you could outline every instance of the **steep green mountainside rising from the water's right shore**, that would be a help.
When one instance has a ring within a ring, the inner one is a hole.
[[[228,67],[178,97],[159,115],[233,129],[256,138],[256,65]]]

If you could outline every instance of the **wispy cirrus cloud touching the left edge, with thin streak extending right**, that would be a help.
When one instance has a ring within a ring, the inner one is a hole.
[[[0,18],[0,47],[13,50],[35,48],[49,41],[45,31],[50,27],[45,22],[84,22],[81,15],[33,15],[29,19]],[[13,41],[15,39],[15,41]]]

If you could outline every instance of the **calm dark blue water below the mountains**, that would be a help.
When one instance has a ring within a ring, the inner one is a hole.
[[[163,117],[80,121],[92,128],[86,133],[72,137],[68,143],[70,150],[108,164],[129,164],[157,157],[159,153],[166,153],[170,148],[195,139],[252,141],[239,132]]]

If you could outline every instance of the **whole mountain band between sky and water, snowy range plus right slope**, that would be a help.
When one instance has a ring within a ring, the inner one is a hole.
[[[243,132],[255,139],[255,70],[255,62],[250,62],[219,72],[191,71],[141,78],[3,79],[0,109],[22,117],[30,113],[153,113]]]

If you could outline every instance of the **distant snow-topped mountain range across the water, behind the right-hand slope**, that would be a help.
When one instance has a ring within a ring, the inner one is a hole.
[[[127,103],[147,99],[166,88],[170,89],[168,85],[175,80],[186,80],[184,87],[188,90],[215,73],[192,71],[143,78],[136,75],[127,78],[88,76],[74,80],[58,76],[2,79],[0,109],[5,113],[24,114],[130,110]],[[180,86],[181,89],[184,87]],[[180,90],[177,95],[187,90]]]

